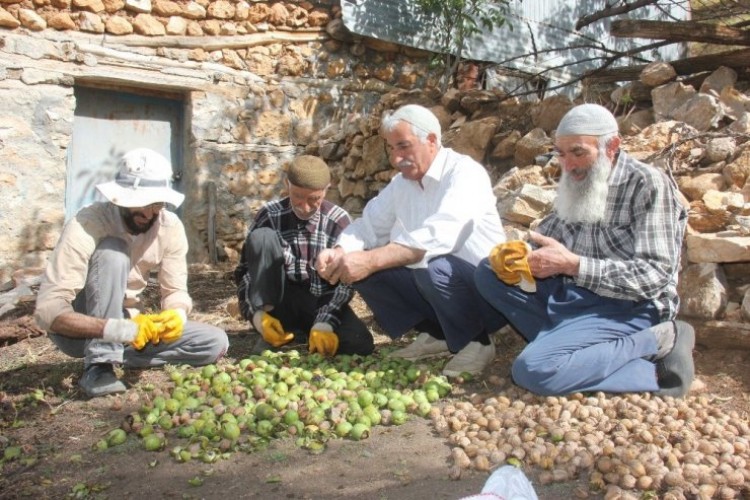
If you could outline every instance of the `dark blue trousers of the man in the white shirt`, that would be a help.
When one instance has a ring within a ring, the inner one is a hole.
[[[444,255],[432,259],[426,269],[379,271],[355,283],[354,289],[391,338],[431,323],[441,331],[448,349],[456,353],[507,323],[477,292],[474,269],[463,259]]]

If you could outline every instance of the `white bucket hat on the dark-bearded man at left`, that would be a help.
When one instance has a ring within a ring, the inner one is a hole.
[[[96,189],[119,207],[169,203],[179,207],[185,195],[172,189],[172,165],[162,155],[138,148],[122,155],[115,180]]]

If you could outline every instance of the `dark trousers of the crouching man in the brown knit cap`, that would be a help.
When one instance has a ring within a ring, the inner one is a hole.
[[[269,313],[281,321],[284,330],[294,333],[295,341],[307,342],[318,310],[328,304],[331,294],[316,297],[310,283],[294,283],[286,276],[280,236],[270,228],[252,231],[245,241],[245,259],[250,274],[247,297],[255,310],[273,306]],[[342,306],[335,328],[339,354],[371,354],[374,342],[367,325],[348,304]]]

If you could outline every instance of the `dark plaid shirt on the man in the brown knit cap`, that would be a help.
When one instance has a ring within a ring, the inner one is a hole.
[[[336,238],[350,223],[351,218],[346,210],[328,200],[323,201],[320,210],[312,219],[300,220],[294,215],[287,197],[269,202],[261,208],[250,228],[252,232],[260,227],[268,227],[281,235],[287,279],[293,283],[309,283],[310,293],[315,297],[330,297],[328,302],[318,309],[315,322],[328,323],[334,330],[341,323],[341,308],[349,303],[354,290],[349,285],[331,285],[320,277],[313,266],[321,250],[333,247]],[[242,315],[249,320],[255,310],[247,297],[252,283],[247,273],[244,253],[243,251],[240,263],[234,271],[234,278]]]

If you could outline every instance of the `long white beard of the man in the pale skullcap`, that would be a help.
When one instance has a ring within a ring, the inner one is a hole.
[[[555,199],[557,215],[565,222],[593,224],[604,219],[609,193],[607,179],[611,171],[612,161],[601,150],[583,180],[573,180],[570,174],[563,170]]]

